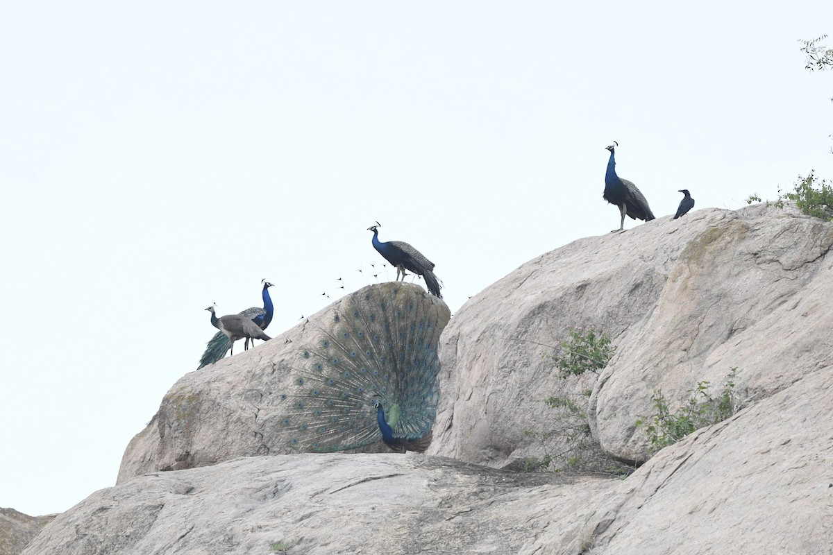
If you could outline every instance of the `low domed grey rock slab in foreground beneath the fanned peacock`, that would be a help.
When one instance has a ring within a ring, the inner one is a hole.
[[[571,507],[611,484],[552,478],[397,453],[240,458],[94,493],[23,553],[516,553],[554,511],[580,526]]]

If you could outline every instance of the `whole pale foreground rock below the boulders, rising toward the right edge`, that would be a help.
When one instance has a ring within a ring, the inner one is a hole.
[[[624,481],[395,453],[153,473],[93,493],[23,554],[829,554],[831,406],[821,370]]]

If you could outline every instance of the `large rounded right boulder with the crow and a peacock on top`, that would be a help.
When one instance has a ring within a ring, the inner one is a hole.
[[[594,435],[624,460],[648,458],[635,423],[653,412],[656,389],[677,403],[736,368],[748,404],[831,366],[831,244],[833,225],[757,205],[662,218],[531,260],[466,303],[443,334],[428,453],[498,468],[540,457],[524,430],[553,429],[542,400],[576,388],[543,358],[568,326],[614,338],[614,359],[578,389],[593,388]]]

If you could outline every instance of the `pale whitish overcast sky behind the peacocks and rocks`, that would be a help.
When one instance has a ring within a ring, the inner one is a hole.
[[[375,281],[374,221],[456,312],[618,227],[611,141],[657,217],[833,178],[826,32],[830,0],[7,4],[0,506],[112,485],[203,309],[266,278],[281,334]]]

